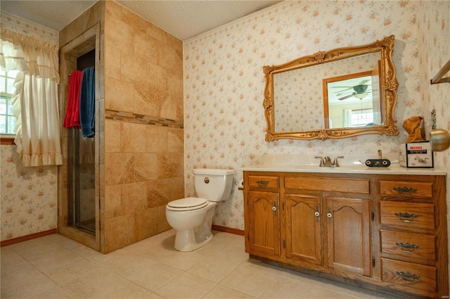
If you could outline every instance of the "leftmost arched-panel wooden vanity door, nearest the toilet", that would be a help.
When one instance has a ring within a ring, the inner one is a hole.
[[[250,191],[248,242],[250,254],[280,255],[278,193]]]

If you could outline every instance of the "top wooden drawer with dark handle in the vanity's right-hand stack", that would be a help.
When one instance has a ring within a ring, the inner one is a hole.
[[[380,195],[432,197],[432,183],[380,181]]]

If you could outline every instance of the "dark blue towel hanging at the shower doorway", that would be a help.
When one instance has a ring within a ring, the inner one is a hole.
[[[96,82],[94,67],[83,70],[79,92],[79,122],[83,137],[94,137],[96,120]]]

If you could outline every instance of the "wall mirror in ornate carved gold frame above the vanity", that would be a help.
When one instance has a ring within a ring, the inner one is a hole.
[[[266,141],[397,135],[394,36],[264,66]]]

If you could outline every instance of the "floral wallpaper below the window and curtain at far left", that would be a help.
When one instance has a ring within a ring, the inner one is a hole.
[[[23,167],[15,146],[0,146],[1,241],[56,229],[57,167]]]

